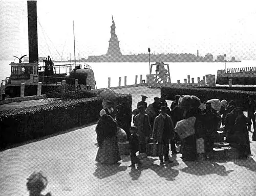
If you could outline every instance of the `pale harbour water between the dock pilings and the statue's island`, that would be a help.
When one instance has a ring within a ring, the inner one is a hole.
[[[4,80],[11,74],[10,61],[0,61],[0,80]],[[16,61],[15,61],[16,62]],[[68,64],[66,63],[55,63]],[[42,66],[42,63],[39,63]],[[83,62],[80,62],[83,65]],[[142,80],[146,80],[146,75],[150,73],[149,63],[87,63],[89,64],[93,71],[95,80],[97,83],[97,88],[108,87],[108,78],[111,78],[111,86],[118,86],[119,77],[121,77],[121,85],[124,85],[124,76],[127,77],[127,85],[135,84],[135,76],[138,75],[138,82],[140,81],[140,75],[142,75]],[[177,83],[180,80],[184,83],[184,79],[187,75],[191,78],[195,78],[195,83],[197,83],[197,77],[202,77],[207,74],[212,74],[217,76],[218,69],[224,69],[224,63],[168,63],[170,69],[170,78],[173,83]],[[253,60],[242,60],[238,63],[226,63],[226,68],[236,68],[236,67],[253,67],[256,66],[256,61]],[[83,66],[82,66],[83,67]],[[73,67],[74,68],[74,67]],[[67,68],[67,70],[69,70]],[[66,68],[60,68],[60,72],[65,72]],[[153,67],[153,74],[155,71],[155,66]],[[58,72],[58,68],[56,68]]]

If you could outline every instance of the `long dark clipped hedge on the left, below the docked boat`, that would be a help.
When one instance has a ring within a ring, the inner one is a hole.
[[[122,103],[131,112],[132,96],[118,94],[116,104]],[[0,111],[0,148],[96,122],[101,104],[100,97],[91,97]]]

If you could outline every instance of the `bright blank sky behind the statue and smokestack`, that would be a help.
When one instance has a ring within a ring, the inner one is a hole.
[[[256,1],[37,1],[38,56],[103,55],[112,15],[122,54],[193,53],[256,59]],[[27,1],[0,0],[0,60],[28,54]]]

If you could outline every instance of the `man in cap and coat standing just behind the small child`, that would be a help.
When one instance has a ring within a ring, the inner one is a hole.
[[[140,152],[146,152],[146,142],[152,134],[152,128],[150,125],[150,117],[145,113],[145,107],[139,106],[139,114],[134,117],[134,126],[138,129]]]

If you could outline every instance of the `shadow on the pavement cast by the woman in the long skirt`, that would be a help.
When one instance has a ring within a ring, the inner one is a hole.
[[[96,170],[94,171],[93,175],[99,179],[107,178],[117,174],[120,171],[125,171],[127,166],[120,166],[121,163],[116,164],[101,164],[96,163]]]

